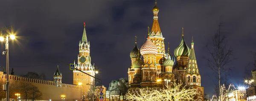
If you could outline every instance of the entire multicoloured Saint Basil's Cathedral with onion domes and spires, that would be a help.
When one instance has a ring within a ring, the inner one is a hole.
[[[188,87],[197,89],[195,100],[204,101],[204,87],[201,87],[201,75],[195,57],[194,42],[191,48],[184,40],[183,28],[180,44],[175,48],[174,55],[165,51],[164,37],[158,23],[157,3],[153,8],[153,24],[148,27],[148,38],[139,49],[137,40],[130,53],[131,66],[128,68],[128,79],[131,89],[140,87],[159,87],[166,81],[182,80]],[[143,57],[143,61],[142,61]],[[161,79],[161,82],[157,82]]]

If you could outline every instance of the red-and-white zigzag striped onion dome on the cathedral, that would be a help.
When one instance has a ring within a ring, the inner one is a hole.
[[[144,55],[144,54],[157,55],[157,47],[151,42],[151,40],[149,39],[149,36],[147,41],[141,46],[140,53],[141,55]]]

